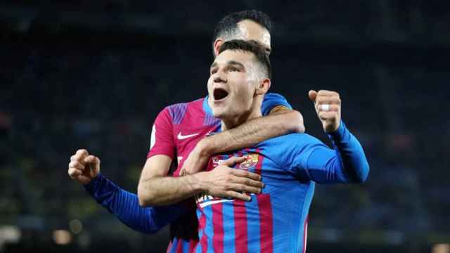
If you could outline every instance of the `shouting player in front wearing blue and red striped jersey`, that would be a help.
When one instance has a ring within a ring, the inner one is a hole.
[[[255,41],[226,41],[210,67],[212,115],[229,131],[261,117],[271,86],[269,57]],[[207,193],[197,197],[200,242],[195,252],[305,252],[307,216],[315,183],[362,183],[368,162],[340,118],[334,91],[309,91],[333,149],[308,134],[271,138],[250,148],[214,155],[207,171],[230,157],[236,170],[262,176],[265,187],[249,202]],[[234,158],[236,161],[236,158]]]

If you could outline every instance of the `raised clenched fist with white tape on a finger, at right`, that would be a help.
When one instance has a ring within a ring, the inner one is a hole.
[[[340,125],[340,98],[335,91],[309,91],[309,99],[314,102],[317,116],[321,119],[323,131],[330,133]]]

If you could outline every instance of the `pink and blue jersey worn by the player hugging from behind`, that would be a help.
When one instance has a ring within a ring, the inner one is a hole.
[[[266,94],[262,103],[263,115],[268,115],[272,109],[280,105],[292,109],[283,96],[275,93]],[[195,145],[205,136],[218,131],[220,127],[220,119],[212,116],[207,97],[189,103],[169,105],[155,119],[147,157],[167,155],[172,160],[176,158],[178,166],[172,176],[179,176],[184,160]],[[191,202],[191,212],[171,223],[171,242],[167,252],[191,252],[198,242],[195,202],[193,200]]]

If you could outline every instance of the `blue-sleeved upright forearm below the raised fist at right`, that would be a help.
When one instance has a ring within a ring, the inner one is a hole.
[[[354,183],[366,181],[369,172],[366,155],[361,143],[350,133],[344,122],[341,121],[338,130],[328,136],[333,141],[333,148],[340,158],[342,169],[349,181]]]

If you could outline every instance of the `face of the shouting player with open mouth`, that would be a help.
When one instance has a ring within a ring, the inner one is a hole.
[[[214,60],[208,79],[208,94],[214,117],[234,119],[252,111],[259,84],[255,56],[226,50]]]

